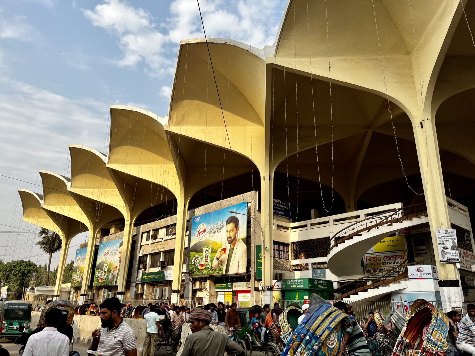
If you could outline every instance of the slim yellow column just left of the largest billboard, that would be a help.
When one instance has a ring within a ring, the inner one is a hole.
[[[190,199],[178,197],[175,259],[173,262],[173,282],[171,284],[171,302],[175,304],[180,302],[181,270],[183,266],[183,251],[185,249],[186,218],[189,201]]]

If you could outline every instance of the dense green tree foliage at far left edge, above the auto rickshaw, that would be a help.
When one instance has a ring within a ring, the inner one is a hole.
[[[8,285],[10,292],[16,293],[19,298],[25,286],[25,282],[31,279],[31,275],[38,271],[38,266],[31,261],[10,261],[0,264],[0,280],[3,285]]]

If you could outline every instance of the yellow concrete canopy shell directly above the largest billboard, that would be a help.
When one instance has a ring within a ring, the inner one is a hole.
[[[210,41],[231,149],[264,169],[266,64],[242,47]],[[204,39],[180,43],[165,130],[229,149]]]

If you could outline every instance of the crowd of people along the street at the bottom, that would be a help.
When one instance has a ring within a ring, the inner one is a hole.
[[[371,337],[378,332],[378,326],[374,319],[374,313],[370,312],[368,321],[361,327],[354,316],[351,305],[338,301],[334,307],[342,310],[350,319],[350,325],[345,330],[342,346],[338,356],[342,355],[346,348],[349,356],[372,356],[377,355],[373,349]],[[275,303],[274,308],[279,308]],[[117,298],[104,300],[99,308],[95,303],[89,307],[89,315],[99,316],[101,328],[92,333],[92,343],[89,350],[102,356],[136,356],[137,337],[134,330],[127,325],[125,319],[132,315],[130,304],[123,307]],[[270,312],[270,305],[263,307],[264,311],[256,313],[251,319],[251,326],[256,338],[264,342],[266,335],[266,318]],[[308,311],[308,304],[302,306],[303,314],[299,322]],[[273,320],[278,326],[278,319],[273,315]],[[464,317],[456,310],[447,313],[449,329],[447,334],[447,356],[461,356],[462,353],[475,356],[475,304],[468,304],[467,314]],[[228,352],[233,355],[245,355],[244,350],[223,333],[213,331],[210,326],[219,325],[225,328],[237,329],[241,327],[237,304],[232,303],[226,309],[224,303],[218,305],[209,303],[205,306],[193,309],[186,306],[161,302],[149,303],[142,311],[142,318],[147,322],[147,330],[143,347],[144,356],[153,356],[159,338],[169,338],[173,330],[180,331],[184,323],[190,324],[192,334],[186,339],[181,355],[202,356],[223,355]],[[45,326],[41,330],[35,330],[29,337],[25,347],[24,356],[54,355],[67,356],[69,343],[73,337],[69,325],[65,325],[64,315],[60,309],[49,309],[45,313]]]

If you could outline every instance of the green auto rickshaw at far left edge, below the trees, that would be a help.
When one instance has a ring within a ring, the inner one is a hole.
[[[1,336],[11,339],[19,337],[22,335],[22,332],[18,330],[19,326],[25,328],[24,333],[31,332],[31,304],[21,300],[8,300],[3,304],[5,306],[5,316]]]

